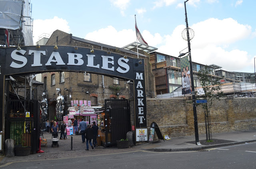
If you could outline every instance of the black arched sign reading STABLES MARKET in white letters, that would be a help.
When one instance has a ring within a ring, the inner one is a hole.
[[[135,124],[136,128],[146,128],[146,90],[144,76],[144,59],[125,59],[117,53],[107,54],[106,51],[79,47],[78,50],[70,46],[42,45],[0,48],[0,117],[3,113],[3,86],[5,75],[29,75],[44,72],[78,71],[100,75],[130,79],[134,81]],[[2,120],[2,119],[1,119]],[[0,126],[2,129],[2,126]]]

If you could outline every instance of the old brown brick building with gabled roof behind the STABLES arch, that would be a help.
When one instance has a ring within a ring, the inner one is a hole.
[[[77,46],[78,50],[79,47],[87,47],[137,58],[137,53],[135,52],[137,51],[136,48],[126,50],[74,37],[72,34],[60,30],[56,30],[52,33],[46,45],[66,45],[72,48]],[[61,50],[61,47],[59,47],[58,50]],[[139,59],[144,59],[145,63],[146,95],[147,97],[154,98],[155,83],[151,65],[148,60],[149,54],[140,50]],[[122,77],[117,78],[108,75],[93,74],[89,71],[69,72],[63,69],[61,72],[42,73],[43,88],[44,91],[47,91],[47,98],[49,100],[48,118],[54,119],[56,114],[56,88],[62,90],[61,94],[65,97],[67,103],[65,112],[68,113],[67,107],[71,106],[71,100],[90,100],[94,108],[100,108],[104,106],[105,99],[132,99],[134,96],[133,85],[126,83],[126,81],[127,79],[123,79]]]

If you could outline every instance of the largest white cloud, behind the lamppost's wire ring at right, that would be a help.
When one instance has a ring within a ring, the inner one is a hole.
[[[188,46],[181,37],[184,25],[177,26],[172,35],[166,35],[164,45],[158,51],[172,56],[178,56],[179,51]],[[210,18],[191,26],[195,32],[191,43],[192,61],[202,64],[215,64],[226,71],[242,71],[250,63],[250,56],[246,51],[226,47],[244,38],[250,38],[251,27],[238,24],[232,18],[218,20]],[[184,50],[186,52],[187,49]]]

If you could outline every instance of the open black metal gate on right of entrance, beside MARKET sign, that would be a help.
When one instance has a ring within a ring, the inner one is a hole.
[[[125,139],[131,131],[130,110],[127,99],[105,100],[106,146]]]

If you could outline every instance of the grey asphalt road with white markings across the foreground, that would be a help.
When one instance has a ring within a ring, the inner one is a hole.
[[[208,149],[208,151],[131,150],[122,153],[113,151],[109,154],[87,153],[80,157],[15,161],[0,167],[8,169],[252,169],[256,166],[255,142]]]

